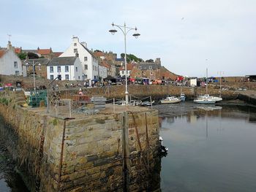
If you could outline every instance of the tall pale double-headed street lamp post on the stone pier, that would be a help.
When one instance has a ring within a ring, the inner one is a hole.
[[[125,105],[127,106],[128,105],[128,95],[129,95],[128,86],[127,86],[127,34],[129,31],[132,31],[132,30],[137,31],[137,28],[136,27],[135,28],[127,27],[126,23],[124,23],[124,26],[119,26],[119,25],[112,23],[112,26],[116,26],[116,27],[120,28],[120,30],[124,34]],[[128,31],[127,31],[127,29],[128,29]],[[115,34],[117,31],[116,31],[116,29],[111,29],[109,32],[111,34]],[[140,34],[135,33],[132,36],[135,38],[138,38],[140,36]]]

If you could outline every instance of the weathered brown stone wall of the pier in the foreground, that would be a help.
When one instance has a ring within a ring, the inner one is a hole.
[[[7,138],[31,191],[159,188],[156,110],[135,107],[61,119],[47,115],[45,108],[20,107],[23,92],[0,92],[0,99],[0,116],[7,124],[1,137]]]

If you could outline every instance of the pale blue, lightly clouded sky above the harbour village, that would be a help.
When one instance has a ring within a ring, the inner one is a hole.
[[[124,34],[111,23],[138,28],[127,53],[161,58],[171,72],[190,77],[256,74],[255,0],[0,0],[0,46],[65,51],[72,36],[89,49],[124,53]]]

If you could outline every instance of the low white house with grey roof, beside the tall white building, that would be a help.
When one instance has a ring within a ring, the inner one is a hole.
[[[48,80],[61,75],[61,80],[83,80],[81,62],[78,57],[53,58],[47,66]]]

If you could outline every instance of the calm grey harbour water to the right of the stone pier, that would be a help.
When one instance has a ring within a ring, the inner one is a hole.
[[[255,117],[249,107],[162,114],[162,191],[256,191]]]

